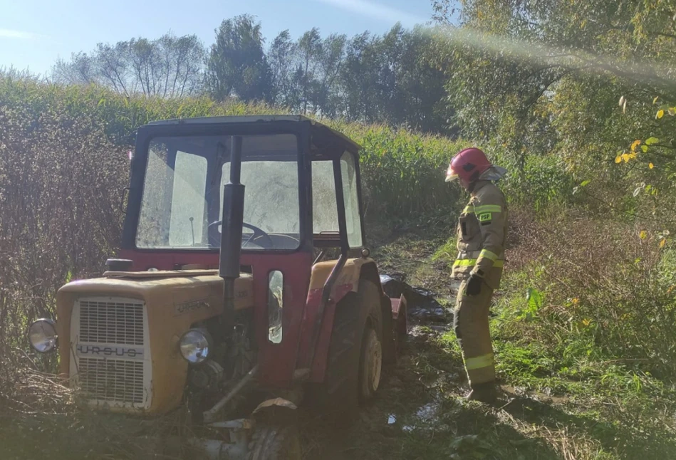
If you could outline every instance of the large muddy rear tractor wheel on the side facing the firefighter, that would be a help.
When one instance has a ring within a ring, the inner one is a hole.
[[[374,283],[360,280],[355,295],[336,305],[320,404],[328,419],[349,424],[380,385],[383,313]]]

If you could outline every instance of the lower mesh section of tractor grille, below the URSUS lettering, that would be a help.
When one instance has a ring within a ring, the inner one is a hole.
[[[143,402],[143,362],[80,358],[80,388],[93,399]]]

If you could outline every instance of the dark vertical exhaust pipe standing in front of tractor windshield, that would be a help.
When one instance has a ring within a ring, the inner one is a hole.
[[[241,179],[241,136],[232,136],[230,149],[230,181],[223,188],[223,219],[219,276],[223,278],[222,325],[229,338],[234,329],[234,284],[239,278],[241,234],[244,221],[244,185]]]

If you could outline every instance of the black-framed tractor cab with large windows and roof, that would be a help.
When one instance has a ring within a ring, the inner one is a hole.
[[[359,146],[347,137],[304,117],[167,120],[138,130],[123,236],[134,269],[216,266],[238,148],[243,253],[363,246]]]

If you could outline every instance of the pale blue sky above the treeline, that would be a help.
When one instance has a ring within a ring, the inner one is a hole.
[[[209,46],[223,19],[248,13],[268,42],[318,27],[322,36],[383,33],[397,21],[411,27],[432,16],[430,0],[0,0],[0,67],[45,73],[61,56],[99,42],[196,33]]]

